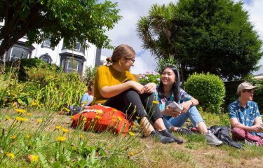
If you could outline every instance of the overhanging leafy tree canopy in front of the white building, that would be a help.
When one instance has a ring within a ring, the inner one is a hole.
[[[68,48],[76,40],[112,48],[104,33],[121,19],[116,7],[107,0],[0,0],[0,55],[25,34],[28,44],[50,38],[54,47],[64,38]]]

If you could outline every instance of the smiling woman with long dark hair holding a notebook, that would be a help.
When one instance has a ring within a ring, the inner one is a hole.
[[[159,101],[159,108],[163,114],[163,122],[168,130],[173,132],[193,134],[186,129],[182,129],[185,121],[190,118],[191,123],[198,128],[210,145],[220,145],[222,141],[218,140],[210,131],[208,131],[203,118],[196,109],[198,100],[191,97],[180,88],[180,75],[175,66],[166,66],[161,73],[160,85],[154,92]],[[182,111],[175,110],[170,106],[171,102],[182,105]]]

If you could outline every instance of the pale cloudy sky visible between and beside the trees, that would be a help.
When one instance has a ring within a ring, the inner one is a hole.
[[[237,0],[234,0],[237,1]],[[169,2],[177,2],[175,0],[112,0],[118,3],[120,9],[119,15],[123,18],[115,25],[114,29],[107,32],[114,46],[120,44],[128,44],[137,53],[135,64],[131,68],[132,73],[145,73],[146,71],[154,71],[156,69],[156,59],[151,55],[149,50],[142,48],[142,41],[137,36],[136,23],[140,17],[147,16],[147,13],[154,3],[168,4]],[[260,38],[263,41],[263,1],[262,0],[243,0],[245,10],[248,10],[250,22],[255,26]],[[102,49],[104,57],[111,57],[112,50]],[[263,59],[259,64],[263,65]],[[255,72],[255,74],[263,73],[263,67]]]

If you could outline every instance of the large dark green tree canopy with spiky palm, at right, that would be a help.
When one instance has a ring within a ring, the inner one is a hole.
[[[137,22],[143,47],[156,57],[174,55],[182,76],[210,72],[233,80],[259,67],[262,41],[243,3],[179,0],[154,5]]]

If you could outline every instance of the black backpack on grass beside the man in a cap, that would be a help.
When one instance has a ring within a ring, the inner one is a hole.
[[[210,127],[209,130],[211,130],[211,132],[213,132],[215,137],[217,137],[217,139],[222,141],[224,144],[227,144],[229,146],[234,146],[236,148],[242,148],[241,144],[231,139],[227,126],[214,125]]]

